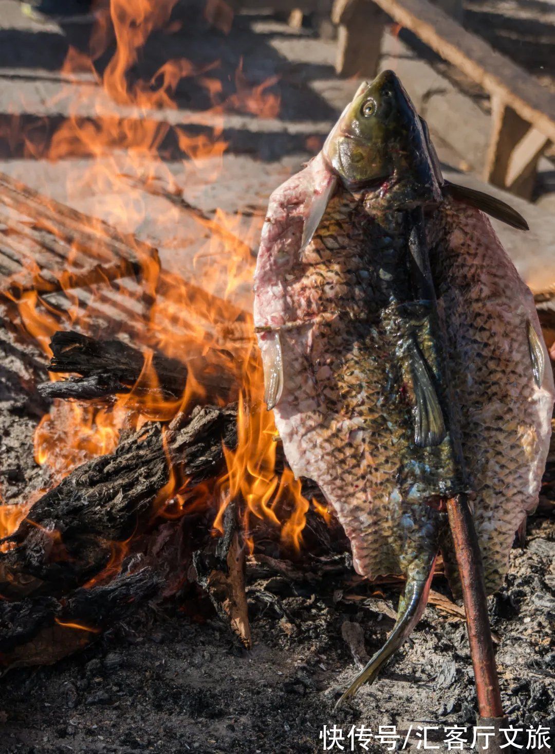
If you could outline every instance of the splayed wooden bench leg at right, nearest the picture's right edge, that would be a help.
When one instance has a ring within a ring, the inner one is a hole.
[[[541,152],[549,139],[500,97],[492,99],[492,130],[483,177],[525,199],[532,197]]]

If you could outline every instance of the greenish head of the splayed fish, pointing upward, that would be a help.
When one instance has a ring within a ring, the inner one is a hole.
[[[426,197],[438,201],[435,152],[424,128],[398,76],[383,71],[358,87],[326,139],[323,156],[349,189],[395,186],[407,206],[425,203]]]

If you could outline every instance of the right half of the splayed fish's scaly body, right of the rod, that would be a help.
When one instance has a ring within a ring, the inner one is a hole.
[[[515,532],[538,503],[553,373],[544,350],[544,374],[536,384],[528,327],[542,344],[543,339],[532,294],[486,216],[450,201],[429,228],[451,403],[462,434],[486,589],[492,593],[507,572]],[[443,551],[458,592],[453,544],[447,541]]]

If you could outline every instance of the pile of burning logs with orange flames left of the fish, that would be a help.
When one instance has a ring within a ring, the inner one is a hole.
[[[56,473],[65,478],[35,501],[3,540],[2,593],[16,600],[10,603],[14,611],[41,616],[33,624],[37,631],[22,639],[19,654],[6,663],[40,662],[39,648],[49,640],[53,648],[45,654],[47,661],[62,656],[62,629],[75,633],[75,641],[66,642],[68,652],[94,638],[103,628],[100,619],[87,622],[75,611],[60,618],[56,605],[65,605],[80,590],[96,593],[115,584],[136,557],[151,563],[158,595],[170,596],[192,579],[202,584],[249,646],[245,553],[255,547],[251,519],[258,522],[263,548],[273,547],[275,553],[282,541],[285,552],[298,550],[309,505],[300,482],[293,483],[291,471],[283,469],[272,418],[261,409],[252,317],[239,305],[161,271],[156,251],[136,238],[8,176],[0,176],[0,192],[5,198],[2,248],[7,259],[22,262],[8,269],[11,277],[4,287],[11,319],[19,317],[20,329],[38,337],[51,356],[50,372],[72,375],[38,385],[38,392],[47,400],[70,399],[66,405],[75,408],[76,437],[89,415],[93,421],[102,416],[111,438],[108,444],[91,445],[91,460],[75,467],[83,455],[65,452],[72,440],[63,432],[64,404],[57,401],[41,421],[38,458],[44,462],[52,454]],[[225,225],[189,204],[182,207],[218,243],[252,259],[250,247]],[[88,249],[101,260],[92,268]],[[32,274],[25,269],[30,254],[41,260]],[[60,274],[56,270],[67,260],[70,270]],[[112,290],[116,278],[128,271],[140,287],[126,283],[119,293]],[[59,329],[67,321],[67,302],[78,302],[87,312],[78,320],[84,333]],[[108,332],[120,327],[122,315],[124,329],[134,333],[133,345],[91,337],[102,329],[99,321],[108,323]],[[237,409],[230,401],[239,388],[244,395]],[[222,407],[206,406],[211,402]],[[56,439],[60,430],[63,435]],[[291,499],[289,488],[294,489]],[[310,486],[307,490],[314,492]],[[240,515],[236,504],[226,506],[223,498],[241,501]],[[192,517],[190,510],[196,511]],[[326,550],[331,541],[321,516],[309,519],[306,534],[319,543],[316,550]],[[177,560],[171,568],[164,565],[166,550]],[[50,612],[41,613],[45,596],[54,602],[48,603]],[[59,622],[50,630],[52,615]]]

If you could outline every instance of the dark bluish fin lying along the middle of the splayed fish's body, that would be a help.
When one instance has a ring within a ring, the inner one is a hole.
[[[430,369],[416,342],[410,348],[410,371],[414,391],[414,442],[419,448],[440,445],[447,434],[438,394]]]

